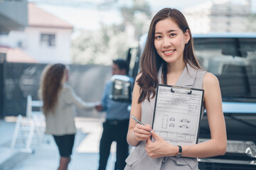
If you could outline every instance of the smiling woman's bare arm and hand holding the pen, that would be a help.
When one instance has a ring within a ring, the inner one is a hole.
[[[141,74],[137,76],[137,79]],[[139,99],[139,85],[137,84],[137,79],[134,83],[134,90],[132,94],[132,108],[131,108],[131,115],[134,115],[135,118],[138,120],[142,120],[142,103],[138,103]],[[127,133],[127,142],[129,145],[137,146],[139,141],[146,140],[150,137],[150,125],[140,125],[132,118],[129,119],[129,130]]]

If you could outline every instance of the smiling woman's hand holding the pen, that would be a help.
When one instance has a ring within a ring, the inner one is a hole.
[[[137,141],[147,140],[151,136],[151,125],[141,125],[137,123],[134,127],[134,135]]]

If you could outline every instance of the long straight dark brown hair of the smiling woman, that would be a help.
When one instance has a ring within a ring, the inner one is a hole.
[[[201,69],[193,50],[193,38],[191,35],[191,30],[188,27],[186,18],[183,16],[181,11],[178,11],[175,8],[161,9],[161,11],[156,13],[156,15],[151,21],[148,37],[146,40],[146,45],[145,45],[144,51],[142,52],[142,60],[141,60],[142,70],[140,71],[140,73],[142,73],[142,76],[139,77],[139,79],[137,80],[137,83],[140,86],[140,96],[139,96],[138,103],[142,103],[142,101],[144,101],[146,98],[148,100],[150,99],[150,97],[154,98],[154,96],[156,95],[156,86],[157,84],[159,84],[157,72],[159,71],[161,64],[163,64],[164,84],[166,84],[167,82],[166,62],[158,55],[158,53],[156,52],[156,48],[154,47],[154,33],[155,33],[156,23],[166,18],[171,18],[172,20],[174,20],[177,23],[178,28],[180,28],[183,31],[183,33],[186,33],[186,30],[188,30],[188,33],[190,35],[190,40],[185,45],[185,48],[183,51],[183,61],[186,64],[187,63],[190,64],[191,67],[193,68]]]

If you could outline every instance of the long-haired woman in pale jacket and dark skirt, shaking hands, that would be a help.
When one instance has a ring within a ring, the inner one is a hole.
[[[65,84],[68,69],[64,64],[48,65],[41,77],[39,95],[43,100],[46,116],[46,133],[53,135],[60,152],[58,170],[68,169],[70,155],[75,140],[75,120],[73,106],[93,108],[94,103],[85,103]]]

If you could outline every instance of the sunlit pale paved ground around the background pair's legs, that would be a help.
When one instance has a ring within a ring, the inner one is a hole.
[[[99,159],[99,141],[102,121],[98,119],[77,118],[78,133],[75,137],[72,161],[69,169],[96,170]],[[11,149],[15,122],[0,120],[0,170],[48,170],[58,167],[58,149],[53,137],[44,135],[41,146],[33,145],[33,153]],[[107,170],[114,169],[115,143],[112,144]]]

